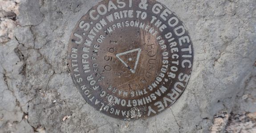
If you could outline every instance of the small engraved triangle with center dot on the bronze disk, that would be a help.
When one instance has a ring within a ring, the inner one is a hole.
[[[134,53],[137,53],[137,56],[136,55],[131,56],[131,55],[134,55]],[[116,57],[134,74],[138,66],[140,54],[141,54],[141,49],[137,48],[134,50],[119,53],[116,55]]]

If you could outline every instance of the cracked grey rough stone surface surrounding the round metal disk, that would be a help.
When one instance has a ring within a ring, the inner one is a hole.
[[[181,98],[138,121],[95,111],[69,75],[71,31],[99,1],[0,0],[1,133],[255,132],[255,0],[158,0],[185,23],[195,61]]]

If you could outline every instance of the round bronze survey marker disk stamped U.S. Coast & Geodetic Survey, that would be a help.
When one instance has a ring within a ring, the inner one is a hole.
[[[179,18],[155,0],[105,0],[75,25],[69,69],[83,98],[110,117],[163,112],[185,90],[191,39]]]

